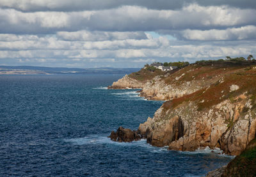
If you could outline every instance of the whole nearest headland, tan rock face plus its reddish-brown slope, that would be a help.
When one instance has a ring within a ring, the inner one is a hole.
[[[255,138],[253,68],[240,68],[206,88],[166,101],[139,131],[154,146],[169,146],[171,150],[209,146],[239,155]]]

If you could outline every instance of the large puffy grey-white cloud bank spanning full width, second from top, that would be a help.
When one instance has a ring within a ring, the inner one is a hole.
[[[148,10],[121,6],[98,11],[40,11],[24,13],[0,9],[1,33],[55,33],[58,31],[157,31],[225,29],[256,25],[256,10],[189,4],[180,10]]]

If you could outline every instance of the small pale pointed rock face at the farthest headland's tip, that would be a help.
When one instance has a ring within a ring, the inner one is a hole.
[[[120,78],[118,81],[114,81],[108,89],[125,89],[125,88],[143,88],[145,83],[142,83],[129,76],[125,75],[123,78]]]

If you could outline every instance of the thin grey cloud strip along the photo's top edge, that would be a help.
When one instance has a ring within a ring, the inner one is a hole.
[[[156,10],[176,10],[189,3],[191,3],[190,0],[0,0],[0,8],[13,8],[19,11],[83,11],[113,9],[120,6],[142,6]],[[194,0],[193,3],[200,4],[200,6],[227,5],[236,8],[256,8],[254,0]]]

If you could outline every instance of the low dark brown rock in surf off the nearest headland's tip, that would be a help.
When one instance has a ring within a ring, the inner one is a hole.
[[[137,131],[131,131],[131,129],[119,127],[116,132],[112,131],[108,138],[110,138],[112,141],[131,142],[140,140],[141,136]]]

